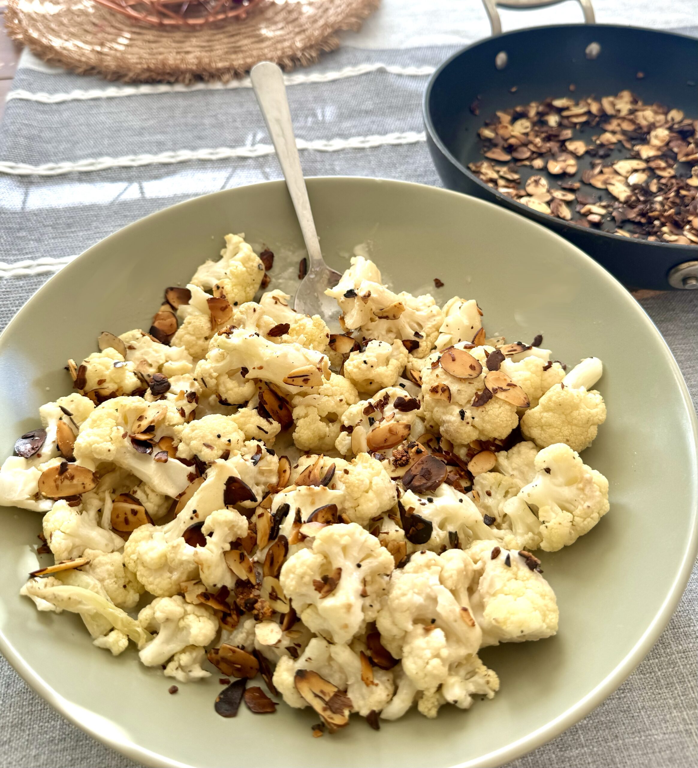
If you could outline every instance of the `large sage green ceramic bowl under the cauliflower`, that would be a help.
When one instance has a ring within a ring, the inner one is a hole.
[[[440,303],[476,297],[488,333],[543,333],[555,357],[604,361],[609,416],[584,460],[611,482],[611,511],[573,547],[543,556],[558,595],[560,631],[482,656],[501,690],[469,712],[410,713],[380,732],[361,720],[311,738],[318,718],[242,707],[213,710],[218,675],[180,686],[91,646],[73,615],[40,614],[18,597],[36,568],[40,518],[0,510],[0,647],[41,696],[77,726],[151,766],[498,766],[555,737],[621,684],[647,654],[680,598],[696,555],[696,418],[676,362],[620,283],[550,230],[445,190],[361,178],[308,183],[324,255],[338,270],[368,243],[404,290],[439,277]],[[300,249],[285,186],[256,184],[199,197],[107,237],[38,291],[0,341],[0,455],[36,424],[38,406],[70,389],[65,360],[94,350],[97,333],[147,326],[163,287],[186,283],[245,232],[276,252]],[[274,270],[281,270],[280,261]],[[273,274],[273,273],[272,273]],[[670,515],[671,525],[660,525]],[[661,531],[661,535],[657,535]],[[31,713],[27,713],[31,717]]]

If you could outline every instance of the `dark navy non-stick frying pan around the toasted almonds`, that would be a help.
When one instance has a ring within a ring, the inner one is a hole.
[[[483,2],[493,19],[492,28],[497,30],[495,0]],[[504,0],[500,5],[533,7],[553,2],[558,0]],[[593,20],[588,0],[580,2],[585,16],[591,14]],[[592,43],[600,46],[595,58],[587,53],[596,51],[596,46],[588,48]],[[696,118],[696,81],[698,40],[684,35],[596,24],[509,32],[470,45],[433,74],[423,104],[427,142],[446,187],[505,205],[558,231],[627,286],[698,288],[698,247],[634,240],[538,213],[487,186],[467,168],[470,162],[483,159],[478,130],[496,110],[548,97],[593,94],[601,98],[629,89],[647,104],[659,101],[683,110],[687,118]],[[575,85],[573,94],[570,84]],[[474,101],[479,102],[477,115],[470,110]],[[590,135],[592,132],[599,131],[591,129]],[[616,159],[627,157],[627,151],[618,150],[617,155]],[[614,155],[606,162],[614,162]],[[590,164],[591,158],[580,157],[575,179]],[[526,171],[521,170],[523,180]],[[533,173],[545,175],[545,170],[528,170],[528,175]],[[603,190],[601,196],[606,195]]]

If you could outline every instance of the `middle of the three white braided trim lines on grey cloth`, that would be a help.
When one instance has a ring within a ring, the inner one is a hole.
[[[298,139],[298,149],[316,152],[338,152],[344,149],[372,149],[374,147],[416,144],[426,141],[423,131],[384,134],[383,136],[354,136],[348,139]],[[133,168],[143,165],[170,165],[191,160],[228,160],[231,157],[263,157],[274,154],[272,144],[252,144],[249,147],[217,147],[216,149],[178,150],[160,154],[130,154],[124,157],[97,157],[66,163],[28,165],[0,161],[0,174],[12,176],[59,176],[73,171],[86,173],[107,168]]]

